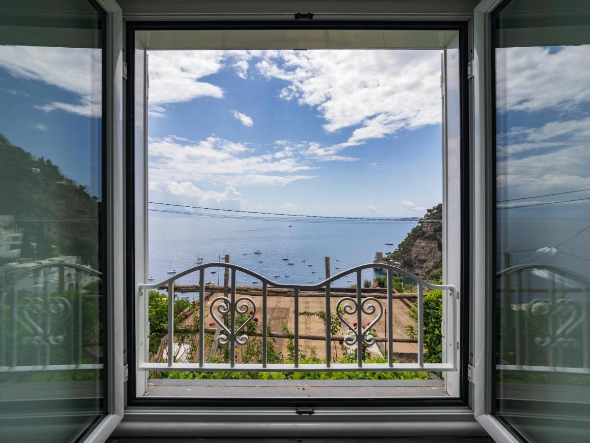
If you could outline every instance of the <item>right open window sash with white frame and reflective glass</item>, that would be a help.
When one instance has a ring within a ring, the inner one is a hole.
[[[474,411],[496,441],[588,437],[585,2],[474,21]]]

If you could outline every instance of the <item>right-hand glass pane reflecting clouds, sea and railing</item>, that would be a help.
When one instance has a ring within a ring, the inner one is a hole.
[[[496,415],[527,441],[590,431],[590,5],[496,13]]]

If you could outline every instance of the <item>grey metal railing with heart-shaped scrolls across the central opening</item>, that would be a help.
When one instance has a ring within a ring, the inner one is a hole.
[[[204,348],[204,334],[205,334],[205,270],[207,268],[224,268],[229,269],[230,272],[230,283],[228,297],[224,295],[217,295],[209,300],[209,313],[211,318],[221,328],[221,333],[215,338],[217,344],[224,346],[229,344],[230,358],[228,363],[211,363],[205,361],[205,348]],[[363,297],[362,294],[362,280],[361,271],[363,269],[375,268],[375,263],[368,263],[366,265],[355,266],[354,268],[347,269],[337,273],[336,275],[325,279],[317,284],[309,285],[295,285],[295,284],[280,284],[273,282],[270,279],[260,275],[250,269],[242,268],[242,266],[233,265],[230,263],[204,263],[194,268],[187,269],[186,271],[180,272],[171,278],[168,278],[162,282],[156,284],[139,284],[137,286],[137,304],[144,308],[148,304],[148,292],[149,289],[158,289],[167,287],[168,289],[168,361],[165,363],[161,362],[150,362],[148,359],[147,351],[138,353],[139,362],[137,369],[143,371],[153,370],[176,370],[176,371],[196,371],[196,372],[309,372],[309,371],[323,371],[323,372],[341,372],[341,371],[428,371],[428,372],[441,372],[441,371],[453,371],[457,369],[456,358],[453,353],[448,353],[447,359],[449,361],[442,363],[425,363],[424,362],[424,288],[430,289],[441,289],[443,293],[447,294],[453,302],[448,303],[447,306],[452,310],[457,310],[457,303],[455,303],[455,287],[453,285],[435,285],[428,283],[421,278],[412,275],[411,273],[404,271],[403,269],[397,268],[396,266],[379,264],[379,268],[385,268],[387,273],[387,297],[386,297],[386,337],[387,337],[387,363],[368,363],[363,361],[362,345],[371,346],[375,343],[375,337],[373,337],[369,331],[371,327],[375,325],[382,317],[384,309],[381,301],[376,297]],[[257,306],[251,297],[246,295],[236,294],[236,273],[243,272],[247,275],[252,276],[261,282],[261,304]],[[199,275],[199,299],[198,299],[198,316],[199,316],[199,340],[198,340],[198,361],[194,363],[183,363],[173,361],[172,356],[174,355],[174,344],[175,344],[175,321],[174,321],[174,288],[175,282],[178,279],[189,275],[191,273],[198,273]],[[336,303],[336,314],[338,319],[345,325],[346,333],[343,341],[350,347],[356,346],[356,363],[333,363],[330,349],[330,343],[332,343],[333,337],[331,335],[330,321],[332,314],[332,305],[330,303],[332,282],[345,275],[356,274],[356,295],[355,297],[345,296],[340,298]],[[401,275],[407,278],[411,278],[417,282],[417,361],[416,363],[395,363],[394,362],[394,351],[393,351],[393,333],[394,330],[394,315],[392,309],[392,301],[394,299],[392,291],[392,275]],[[249,337],[247,334],[247,324],[253,321],[255,316],[262,317],[262,330],[267,331],[269,324],[268,312],[267,312],[267,289],[271,288],[283,288],[291,289],[294,292],[294,331],[293,340],[294,348],[299,350],[299,297],[300,291],[318,291],[323,289],[326,297],[324,299],[324,307],[326,312],[325,321],[325,343],[326,343],[326,355],[325,363],[300,363],[298,352],[294,353],[293,363],[268,363],[267,361],[267,334],[262,334],[262,356],[261,363],[240,363],[236,361],[235,348],[237,345],[244,345],[248,343]],[[141,308],[140,308],[141,309]],[[217,311],[217,312],[216,312]],[[260,312],[261,311],[261,312]],[[217,314],[228,315],[230,319],[228,324],[225,324]],[[244,323],[236,324],[237,315],[248,315]],[[453,315],[453,318],[457,318],[457,312]],[[355,318],[354,323],[351,325],[346,318],[346,315],[352,315]],[[371,315],[373,320],[366,325],[365,315]],[[363,323],[364,320],[364,323]],[[365,328],[362,327],[365,325]],[[451,343],[455,343],[456,337],[454,337],[456,328],[448,328],[450,330]],[[145,338],[148,342],[148,337]],[[139,339],[142,341],[142,338]]]

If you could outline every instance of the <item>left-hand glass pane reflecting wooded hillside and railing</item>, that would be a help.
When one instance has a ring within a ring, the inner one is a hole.
[[[103,415],[103,15],[0,2],[0,441]]]

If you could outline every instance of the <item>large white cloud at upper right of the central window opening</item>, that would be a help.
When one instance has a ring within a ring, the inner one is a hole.
[[[440,51],[268,51],[256,64],[288,84],[280,97],[316,108],[328,132],[356,128],[340,149],[440,123]]]

